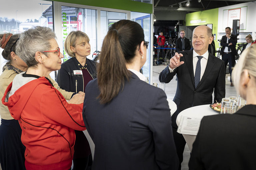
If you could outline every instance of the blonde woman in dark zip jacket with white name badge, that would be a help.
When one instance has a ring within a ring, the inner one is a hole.
[[[71,57],[61,64],[57,83],[60,88],[78,93],[84,92],[87,83],[96,78],[96,62],[86,58],[90,55],[89,37],[81,31],[72,31],[64,42],[65,51]],[[75,130],[74,168],[85,169],[91,153],[89,143],[82,131]]]

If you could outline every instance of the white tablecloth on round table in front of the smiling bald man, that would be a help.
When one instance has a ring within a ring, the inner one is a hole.
[[[217,112],[215,112],[213,109],[210,108],[209,104],[195,106],[195,107],[191,107],[191,108],[181,111],[177,116],[176,124],[179,127],[181,116],[190,116],[190,117],[202,119],[204,116],[217,115],[217,114],[218,114]],[[196,139],[196,135],[190,135],[190,134],[182,134],[182,135],[183,135],[184,139],[186,140],[186,142],[188,144],[188,148],[191,152],[192,145]]]

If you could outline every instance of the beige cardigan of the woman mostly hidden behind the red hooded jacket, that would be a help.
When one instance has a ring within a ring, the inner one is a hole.
[[[2,100],[4,96],[4,92],[8,85],[12,82],[14,77],[17,75],[17,73],[13,70],[4,70],[4,72],[0,75],[0,99]],[[47,78],[52,82],[53,86],[60,91],[60,93],[64,96],[66,100],[70,100],[73,92],[67,92],[63,89],[61,89],[56,81],[54,81],[50,75],[47,76]],[[0,102],[0,116],[1,119],[5,120],[11,120],[13,117],[10,115],[10,112],[8,110],[7,106],[4,106],[2,104],[2,101]]]

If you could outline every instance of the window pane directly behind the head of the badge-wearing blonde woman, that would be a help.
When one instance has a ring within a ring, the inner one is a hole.
[[[67,35],[71,31],[80,30],[86,33],[90,39],[91,53],[97,49],[96,44],[96,10],[75,8],[75,7],[61,7],[62,12],[62,40],[63,46]],[[70,56],[63,48],[63,61],[66,61]],[[88,56],[91,59],[90,56]]]

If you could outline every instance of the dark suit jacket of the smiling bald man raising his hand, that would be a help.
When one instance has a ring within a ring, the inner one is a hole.
[[[176,118],[178,114],[190,107],[211,104],[214,90],[214,102],[221,102],[225,97],[225,64],[221,59],[209,53],[204,75],[197,89],[194,82],[193,49],[181,52],[180,61],[184,64],[175,68],[170,73],[169,65],[160,73],[159,81],[169,83],[177,73],[177,90],[173,101],[177,105],[177,111],[172,115],[172,126],[177,128]]]

